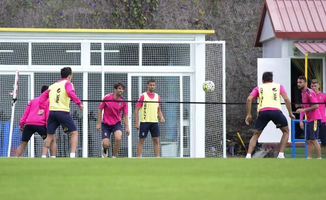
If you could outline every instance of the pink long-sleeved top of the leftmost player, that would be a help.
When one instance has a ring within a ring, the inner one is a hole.
[[[19,121],[20,127],[23,127],[24,125],[47,125],[49,117],[49,100],[45,101],[44,115],[38,115],[39,101],[40,97],[36,97],[26,106],[25,112]]]

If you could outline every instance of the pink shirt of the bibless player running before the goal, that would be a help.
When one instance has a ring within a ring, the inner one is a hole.
[[[105,95],[103,100],[126,101],[126,98],[121,96],[115,99],[114,93],[110,93]],[[115,125],[121,121],[121,111],[123,111],[124,115],[128,114],[127,102],[102,101],[99,105],[99,109],[104,109],[102,122],[108,125]]]

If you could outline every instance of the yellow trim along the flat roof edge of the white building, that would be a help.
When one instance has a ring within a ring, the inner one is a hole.
[[[213,34],[213,33],[215,33],[215,30],[79,29],[79,28],[0,28],[0,31],[14,31],[14,32],[106,32],[106,33],[202,33],[202,34]]]

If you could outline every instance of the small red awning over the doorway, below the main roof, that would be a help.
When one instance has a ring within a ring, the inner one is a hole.
[[[302,53],[324,53],[326,52],[326,41],[296,41],[294,45],[302,52]]]

